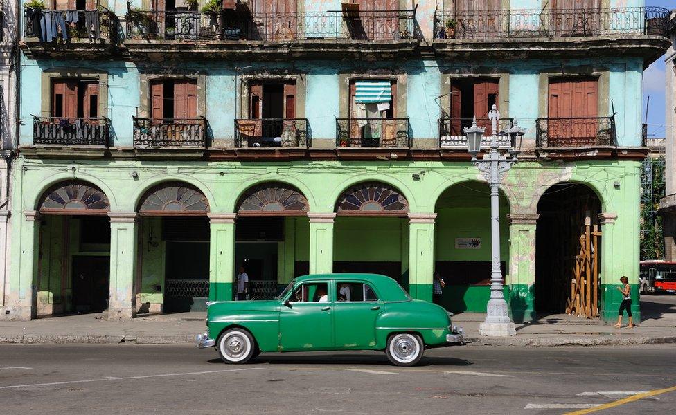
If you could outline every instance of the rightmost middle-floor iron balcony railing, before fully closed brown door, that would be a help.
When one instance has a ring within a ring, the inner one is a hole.
[[[616,146],[615,117],[538,118],[535,147]]]

